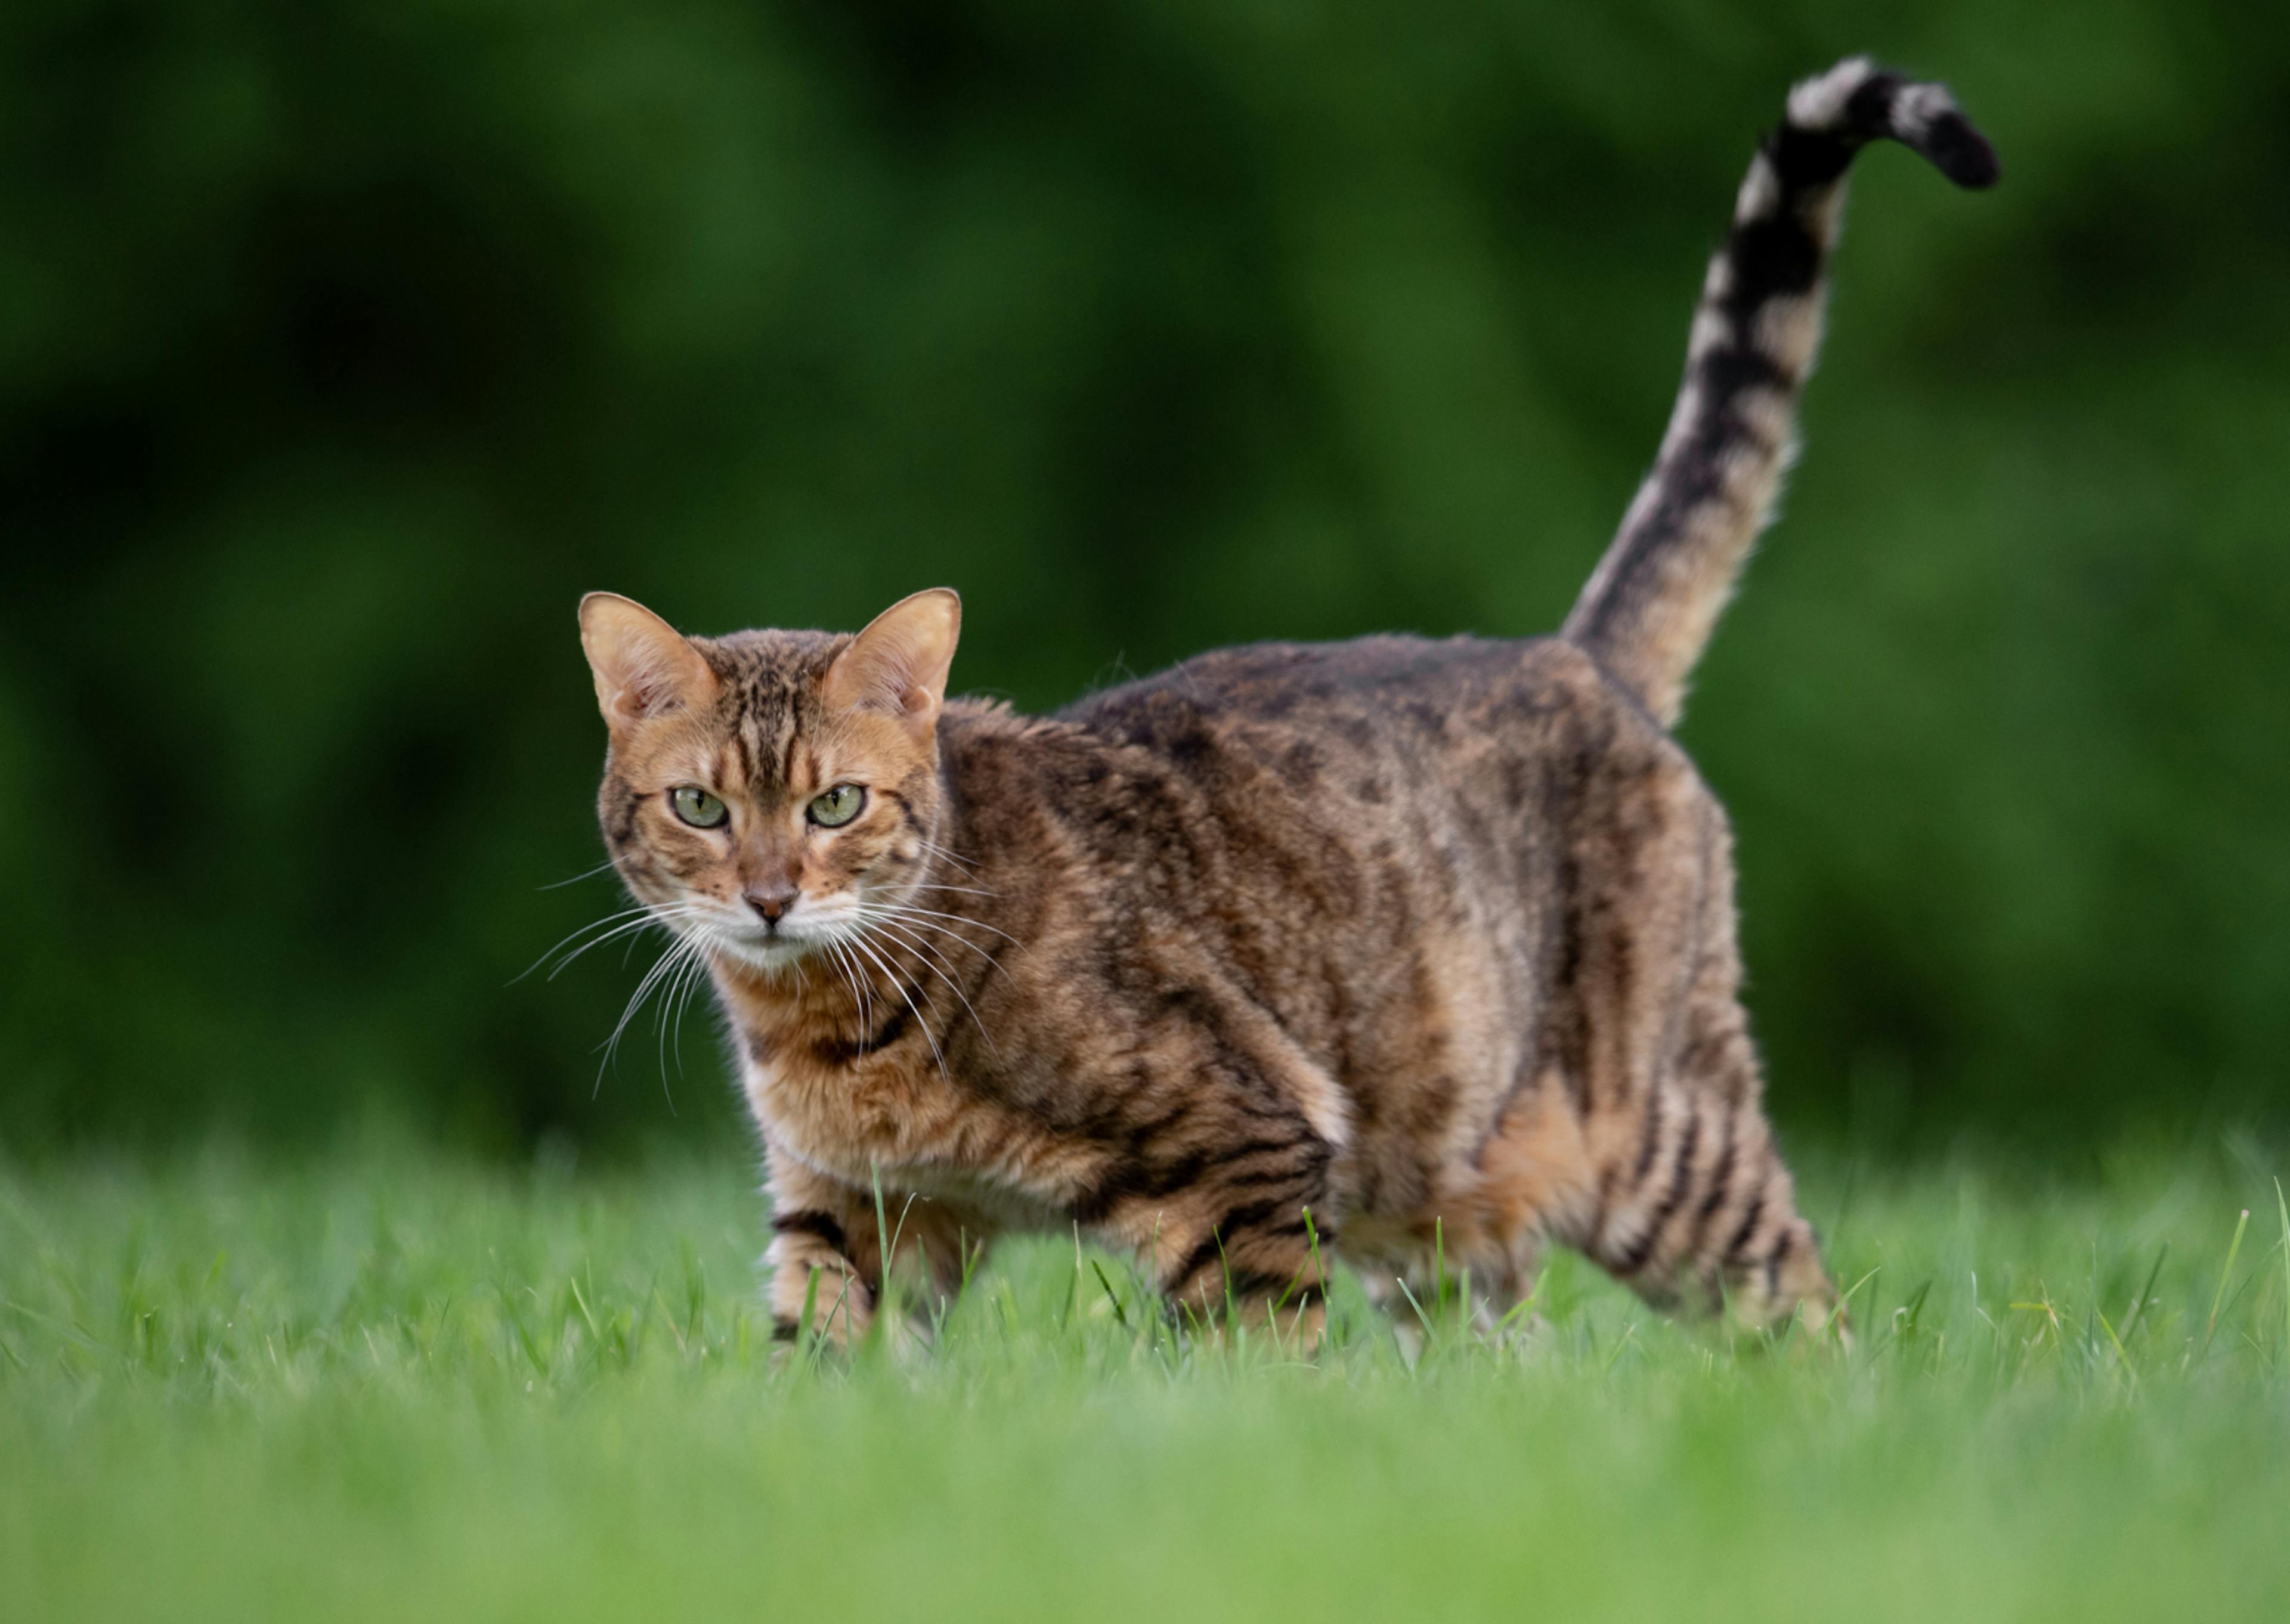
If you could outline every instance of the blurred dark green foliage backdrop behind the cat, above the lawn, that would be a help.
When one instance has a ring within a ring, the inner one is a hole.
[[[572,605],[966,600],[1049,708],[1557,623],[1791,78],[1855,190],[1788,513],[1685,740],[1784,1127],[2290,1090],[2290,9],[2173,0],[11,0],[0,1138],[728,1136],[637,969]],[[639,957],[641,962],[641,957]]]

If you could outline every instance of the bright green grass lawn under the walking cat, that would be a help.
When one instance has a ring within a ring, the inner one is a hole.
[[[774,1361],[735,1164],[0,1164],[0,1617],[2290,1617],[2269,1157],[1999,1168],[1807,1170],[1850,1354],[1557,1258],[1411,1365],[1047,1241]]]

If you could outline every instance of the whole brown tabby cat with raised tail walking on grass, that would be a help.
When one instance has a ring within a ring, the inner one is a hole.
[[[712,971],[763,1129],[772,1310],[868,1324],[1079,1225],[1175,1303],[1319,1326],[1434,1244],[1493,1303],[1543,1241],[1660,1303],[1823,1319],[1759,1111],[1724,813],[1672,742],[1793,451],[1843,172],[1995,153],[1843,62],[1750,165],[1653,474],[1557,639],[1200,655],[1035,719],[948,701],[960,602],[680,637],[582,602],[630,891]],[[909,1200],[911,1198],[911,1200]]]

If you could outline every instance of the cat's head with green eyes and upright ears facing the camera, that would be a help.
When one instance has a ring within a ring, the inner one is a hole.
[[[598,815],[637,900],[758,969],[850,939],[921,884],[962,600],[921,591],[856,637],[685,637],[589,593],[611,749]]]

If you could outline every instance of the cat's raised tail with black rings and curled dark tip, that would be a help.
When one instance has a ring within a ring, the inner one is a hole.
[[[1940,85],[1850,57],[1788,92],[1701,282],[1653,472],[1566,616],[1564,637],[1663,726],[1679,719],[1685,676],[1795,458],[1846,167],[1873,140],[1914,147],[1958,186],[1995,186],[1995,149]]]

